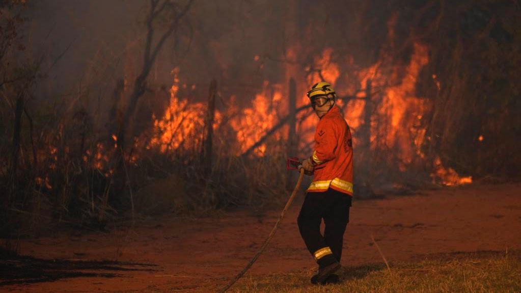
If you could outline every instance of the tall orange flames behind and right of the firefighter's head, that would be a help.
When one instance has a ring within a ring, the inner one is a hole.
[[[388,26],[390,28],[393,27],[392,19]],[[392,33],[390,31],[390,35]],[[337,89],[334,84],[340,77],[340,66],[331,61],[332,55],[333,51],[327,48],[322,52],[321,57],[315,60],[316,68],[321,68],[320,74],[312,73],[309,75],[308,83],[313,84],[320,81],[321,77],[324,77],[337,90],[337,95],[349,95],[349,91],[353,91],[352,88]],[[364,89],[367,80],[371,79],[373,88],[383,89],[383,92],[379,93],[381,100],[379,100],[379,104],[376,104],[377,108],[374,110],[378,119],[384,121],[384,123],[378,125],[376,121],[371,121],[371,149],[375,149],[378,144],[395,149],[396,162],[398,162],[398,167],[402,171],[407,169],[407,166],[412,164],[415,158],[425,159],[421,146],[424,144],[426,129],[421,127],[421,119],[424,113],[429,111],[431,105],[426,99],[416,96],[416,83],[420,70],[429,63],[428,56],[428,48],[423,44],[415,43],[413,54],[404,71],[399,66],[391,68],[390,73],[382,70],[386,61],[384,56],[374,65],[363,68],[358,72],[360,88]],[[437,76],[433,75],[432,79],[436,82],[437,87],[440,88]],[[392,86],[388,86],[389,84],[392,84]],[[347,109],[344,115],[350,127],[355,131],[364,124],[365,94],[363,91],[357,92],[356,97],[359,99],[352,99],[347,105],[341,100],[337,101],[339,107],[345,106]],[[373,103],[375,102],[373,101]],[[303,123],[304,132],[306,129],[314,129],[315,125],[314,117],[309,117]],[[313,138],[311,135],[312,131],[305,133],[307,135],[304,135],[304,139],[311,141]],[[357,136],[355,135],[355,144],[357,143],[356,138]],[[481,141],[482,138],[479,140]],[[472,182],[471,177],[459,177],[454,169],[445,169],[441,165],[441,161],[436,161],[434,166],[435,172],[431,176],[439,179],[442,184],[457,185]]]

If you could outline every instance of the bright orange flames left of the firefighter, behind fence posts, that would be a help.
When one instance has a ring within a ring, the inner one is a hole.
[[[205,126],[206,105],[203,103],[189,103],[186,99],[179,99],[177,83],[170,89],[170,101],[161,118],[153,117],[155,134],[147,145],[147,149],[159,148],[162,153],[173,150],[197,149],[203,141]],[[264,91],[255,96],[251,107],[246,107],[238,112],[235,100],[232,96],[226,115],[232,117],[229,126],[237,133],[235,142],[227,142],[229,146],[238,144],[236,155],[240,155],[261,139],[277,120],[277,109],[282,102],[282,93],[275,90],[269,93],[273,87],[268,82],[264,84]],[[223,114],[215,111],[213,128],[216,129],[222,120]],[[276,135],[277,137],[277,135]],[[254,154],[263,156],[266,144],[260,145],[254,150]]]

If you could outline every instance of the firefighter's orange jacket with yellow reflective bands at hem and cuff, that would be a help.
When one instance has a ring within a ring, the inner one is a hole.
[[[315,171],[308,192],[326,191],[331,187],[353,196],[351,131],[337,106],[333,106],[318,122],[311,161]]]

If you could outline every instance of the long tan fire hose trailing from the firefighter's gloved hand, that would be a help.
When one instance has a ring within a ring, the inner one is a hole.
[[[228,290],[233,284],[235,284],[235,282],[237,282],[237,280],[239,280],[242,276],[244,276],[246,271],[249,270],[249,268],[253,265],[253,263],[258,259],[259,255],[261,255],[263,253],[264,249],[268,246],[268,243],[271,240],[271,238],[273,238],[273,236],[275,236],[275,232],[279,228],[280,223],[282,222],[282,218],[284,217],[284,215],[286,215],[286,212],[288,211],[288,209],[289,209],[289,207],[291,205],[291,202],[293,202],[293,199],[295,198],[296,193],[299,192],[300,184],[302,182],[302,178],[304,177],[304,168],[302,167],[302,164],[299,162],[299,159],[298,158],[294,158],[294,157],[288,159],[288,161],[287,161],[287,168],[288,169],[299,169],[300,175],[299,175],[299,180],[297,180],[295,188],[293,189],[293,192],[291,193],[291,196],[288,199],[288,202],[286,203],[286,206],[284,206],[284,209],[280,213],[280,216],[279,216],[279,219],[277,220],[277,223],[275,223],[275,226],[271,229],[271,232],[269,233],[268,238],[266,238],[266,240],[264,241],[264,244],[262,245],[261,249],[259,249],[257,251],[257,253],[253,257],[253,259],[242,269],[242,271],[239,274],[237,274],[237,276],[235,276],[230,281],[230,283],[228,283],[228,285],[223,287],[219,291],[219,293],[226,292],[226,290]]]

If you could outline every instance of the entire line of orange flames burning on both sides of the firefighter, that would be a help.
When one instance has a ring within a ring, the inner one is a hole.
[[[396,15],[391,17],[388,22],[389,46],[393,47],[394,26],[396,25]],[[296,59],[299,55],[299,45],[289,46],[286,57]],[[353,58],[348,58],[348,64],[340,64],[335,58],[332,48],[325,48],[319,56],[313,60],[313,65],[307,68],[308,75],[306,84],[297,85],[297,89],[308,88],[309,84],[325,80],[332,84],[338,96],[349,96],[355,93],[354,99],[349,101],[337,100],[337,105],[345,109],[345,118],[353,129],[354,143],[356,144],[356,130],[359,126],[366,123],[365,109],[366,100],[364,89],[369,79],[373,88],[378,91],[378,99],[371,100],[374,103],[373,118],[369,121],[371,132],[371,150],[376,148],[393,149],[393,160],[400,170],[405,170],[415,162],[424,161],[426,156],[421,150],[425,143],[426,128],[422,125],[422,119],[430,108],[430,102],[424,97],[417,96],[416,84],[420,71],[429,63],[429,51],[426,45],[421,43],[413,44],[413,53],[408,63],[403,66],[396,66],[390,62],[390,56],[382,54],[381,59],[367,68],[356,68]],[[261,57],[254,56],[254,61],[258,62]],[[342,68],[355,68],[354,74],[348,76],[342,72]],[[154,128],[156,133],[148,144],[147,148],[157,147],[163,153],[170,152],[179,148],[196,149],[201,145],[204,131],[204,117],[206,115],[206,105],[203,103],[189,103],[187,100],[180,99],[178,95],[179,69],[172,70],[175,74],[174,82],[170,90],[171,97],[168,108],[164,114],[156,118],[154,116]],[[288,64],[286,68],[286,78],[294,76],[296,67]],[[352,80],[357,80],[353,82]],[[432,75],[438,89],[441,84],[436,74]],[[337,88],[339,83],[343,88]],[[358,83],[358,84],[357,84]],[[281,90],[280,84],[264,83],[263,89],[257,93],[250,107],[238,110],[235,106],[234,96],[230,98],[230,104],[226,113],[216,111],[216,122],[214,129],[217,128],[223,116],[231,117],[229,126],[235,132],[235,141],[228,141],[230,149],[236,150],[241,154],[250,149],[267,131],[269,131],[281,117],[280,112],[286,111],[284,99],[286,91]],[[285,89],[285,87],[284,87]],[[302,92],[302,91],[301,91]],[[376,101],[378,100],[378,101]],[[302,95],[297,100],[297,106],[309,103],[307,97]],[[233,115],[230,115],[233,114]],[[315,115],[308,115],[309,112],[299,114],[299,129],[301,143],[308,145],[313,141],[313,133],[317,123]],[[281,133],[275,133],[275,139],[281,139]],[[479,141],[483,137],[478,138]],[[117,141],[115,139],[115,141]],[[232,144],[234,144],[232,146]],[[267,151],[266,143],[259,146],[254,154],[265,155]],[[441,160],[437,158],[433,162],[435,171],[431,174],[432,178],[440,180],[446,185],[466,184],[472,182],[471,177],[460,177],[454,169],[444,168]]]

